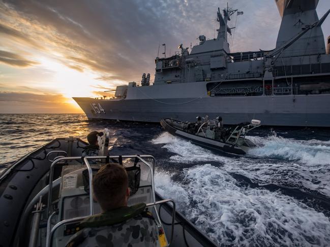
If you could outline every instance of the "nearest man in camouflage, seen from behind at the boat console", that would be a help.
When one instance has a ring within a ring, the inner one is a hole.
[[[125,168],[103,166],[93,178],[93,189],[103,213],[86,217],[67,247],[160,246],[157,223],[144,210],[145,204],[127,206],[130,190]]]

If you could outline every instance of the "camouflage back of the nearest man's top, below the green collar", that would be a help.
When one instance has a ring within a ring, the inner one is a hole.
[[[114,212],[114,218],[118,216],[118,211]],[[119,212],[119,215],[122,213]],[[94,216],[89,217],[89,219]],[[101,214],[102,217],[102,214]],[[104,226],[107,220],[96,216],[96,220],[87,219],[88,224],[99,227],[83,228],[73,235],[67,247],[108,247],[108,246],[128,246],[128,247],[154,247],[160,246],[158,239],[158,228],[155,219],[146,211],[138,215],[110,226]],[[127,218],[127,215],[125,215]],[[111,221],[111,220],[110,220]],[[114,219],[117,221],[117,219]],[[82,224],[84,225],[84,224]]]

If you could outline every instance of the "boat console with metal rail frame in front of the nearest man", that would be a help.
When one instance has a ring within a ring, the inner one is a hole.
[[[48,210],[47,210],[47,229],[46,246],[65,246],[70,237],[80,230],[79,222],[86,216],[101,213],[101,208],[97,202],[93,200],[92,178],[102,164],[89,164],[89,160],[111,160],[112,162],[122,164],[129,174],[129,186],[134,193],[129,198],[128,205],[144,202],[146,208],[152,212],[162,235],[162,246],[168,246],[170,243],[165,234],[162,222],[160,221],[156,205],[172,202],[172,200],[163,200],[156,202],[155,186],[154,186],[154,165],[153,156],[98,156],[85,157],[83,164],[78,161],[81,157],[60,157],[56,159],[49,172],[49,188],[53,187],[53,170],[57,164],[67,162],[62,169],[60,178],[60,190],[57,199],[52,200],[52,190],[48,193]],[[133,171],[133,172],[132,172]],[[137,175],[138,174],[138,175]],[[139,180],[136,181],[135,179]],[[134,188],[134,186],[136,188]],[[174,220],[174,218],[172,218]],[[173,222],[174,224],[174,222]]]

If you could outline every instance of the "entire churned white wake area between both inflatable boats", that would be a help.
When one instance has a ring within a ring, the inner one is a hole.
[[[184,165],[158,169],[157,191],[219,244],[326,245],[330,142],[249,138],[258,147],[232,157],[162,133],[152,143],[171,153],[170,163]]]

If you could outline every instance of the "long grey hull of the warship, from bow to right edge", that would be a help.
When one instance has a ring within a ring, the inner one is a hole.
[[[221,115],[225,124],[259,119],[269,126],[330,126],[330,95],[277,97],[159,98],[100,100],[74,98],[89,119],[157,122],[163,118],[194,121],[197,115]],[[191,101],[186,103],[187,101]],[[94,112],[92,105],[104,109]]]

